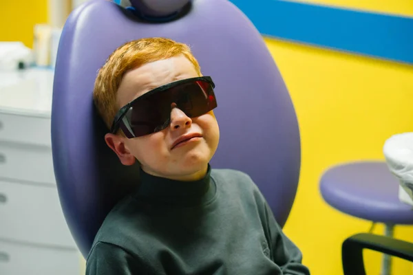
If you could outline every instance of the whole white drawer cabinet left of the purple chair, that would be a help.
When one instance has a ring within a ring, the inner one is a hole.
[[[0,72],[0,274],[78,275],[54,179],[53,72]]]

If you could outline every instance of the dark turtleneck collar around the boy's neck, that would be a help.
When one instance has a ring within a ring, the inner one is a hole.
[[[140,168],[140,185],[136,195],[138,199],[147,202],[193,205],[212,199],[215,190],[209,164],[207,174],[196,181],[178,181],[156,177]]]

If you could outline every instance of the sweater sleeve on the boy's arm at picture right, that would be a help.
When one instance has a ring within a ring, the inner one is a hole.
[[[272,258],[282,270],[283,275],[310,275],[308,268],[301,263],[302,254],[299,248],[282,232],[271,208],[264,202],[268,230],[268,245],[271,247]]]

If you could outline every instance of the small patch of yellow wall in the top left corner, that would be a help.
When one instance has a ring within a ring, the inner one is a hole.
[[[47,23],[47,0],[0,0],[0,41],[22,41],[32,47],[36,23]]]

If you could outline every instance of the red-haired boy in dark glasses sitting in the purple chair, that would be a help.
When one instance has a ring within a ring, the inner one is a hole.
[[[105,141],[122,164],[139,162],[140,182],[100,227],[87,274],[309,274],[251,178],[211,170],[213,87],[169,39],[126,43],[99,70]]]

